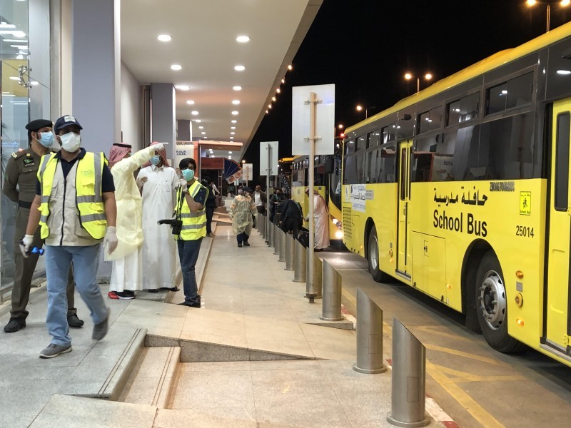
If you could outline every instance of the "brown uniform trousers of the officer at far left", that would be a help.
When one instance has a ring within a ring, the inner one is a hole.
[[[28,217],[30,215],[29,208],[19,207],[16,212],[16,231],[14,233],[14,263],[16,263],[16,270],[14,271],[14,286],[12,287],[12,308],[10,311],[11,318],[21,318],[23,320],[28,316],[26,306],[30,299],[31,279],[38,263],[38,254],[31,254],[28,258],[24,258],[20,253],[18,245],[19,240],[26,235],[26,225],[28,225]],[[40,228],[34,233],[34,242],[32,246],[40,248],[42,240],[40,237]],[[67,315],[74,315],[77,313],[74,300],[75,282],[73,267],[69,270],[67,279]]]

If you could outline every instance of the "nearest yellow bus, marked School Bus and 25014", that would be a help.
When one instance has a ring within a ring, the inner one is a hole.
[[[346,130],[343,242],[500,352],[571,365],[571,23]]]

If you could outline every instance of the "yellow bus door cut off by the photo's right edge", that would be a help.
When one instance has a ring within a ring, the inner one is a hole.
[[[550,188],[549,266],[545,302],[545,339],[570,353],[571,98],[553,103]]]

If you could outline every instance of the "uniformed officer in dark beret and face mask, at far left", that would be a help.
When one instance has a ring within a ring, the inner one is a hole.
[[[4,327],[4,332],[17,332],[26,327],[26,317],[28,311],[26,305],[30,297],[31,278],[36,269],[39,255],[32,253],[28,258],[21,255],[19,249],[19,239],[26,233],[26,225],[30,215],[31,201],[36,196],[36,173],[40,165],[41,156],[49,152],[51,144],[54,143],[54,134],[51,132],[51,121],[37,119],[26,125],[28,130],[29,148],[23,151],[12,153],[6,167],[6,177],[4,179],[4,195],[18,203],[16,212],[16,231],[14,238],[14,261],[16,271],[14,272],[14,287],[12,288],[12,308],[10,311],[10,321]],[[17,187],[16,187],[17,186]],[[34,243],[38,248],[43,244],[40,238],[40,229],[34,234]],[[84,322],[77,317],[77,310],[74,307],[74,276],[70,270],[67,285],[67,320],[70,327],[81,327]]]

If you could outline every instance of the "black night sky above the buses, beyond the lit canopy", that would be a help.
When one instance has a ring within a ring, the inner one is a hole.
[[[550,1],[551,29],[571,21],[571,6]],[[260,141],[279,141],[291,156],[292,86],[335,83],[335,123],[351,126],[416,91],[405,72],[433,82],[545,33],[547,6],[525,0],[323,0],[293,60],[293,71],[261,122],[244,158],[256,177]],[[420,81],[422,90],[428,83]],[[308,150],[309,152],[309,150]]]

